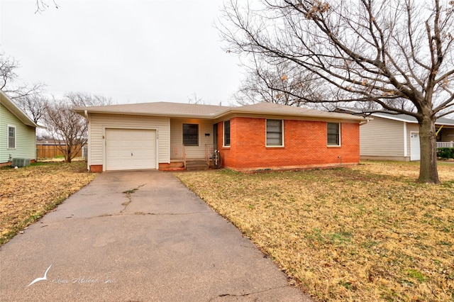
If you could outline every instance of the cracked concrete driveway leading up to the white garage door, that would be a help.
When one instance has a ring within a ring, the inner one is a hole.
[[[105,172],[0,247],[0,300],[311,301],[175,176],[156,171]]]

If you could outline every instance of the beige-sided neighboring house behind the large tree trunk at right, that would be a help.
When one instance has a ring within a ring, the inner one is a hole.
[[[338,111],[361,113],[360,109],[339,108]],[[436,121],[437,147],[454,147],[454,120]],[[405,114],[372,113],[360,128],[361,160],[420,160],[419,124]]]

